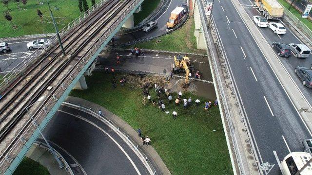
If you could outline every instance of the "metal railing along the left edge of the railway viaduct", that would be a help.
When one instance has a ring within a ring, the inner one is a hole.
[[[94,11],[96,11],[100,6],[102,6],[106,1],[108,0],[100,0],[98,3],[96,3],[94,6],[89,8],[86,12],[81,14],[78,18],[67,24],[64,28],[62,28],[59,31],[60,37],[66,35],[71,29],[73,29],[75,26],[77,26],[81,21],[83,21],[85,18],[87,18],[89,15],[91,15]],[[14,67],[12,70],[10,70],[8,73],[6,73],[1,79],[0,79],[0,89],[3,88],[5,85],[9,84],[10,81],[14,80],[15,77],[19,74],[19,72],[25,70],[26,67],[30,66],[33,61],[36,60],[36,58],[43,56],[46,50],[51,49],[54,44],[58,42],[57,35],[53,35],[48,39],[49,43],[48,45],[44,46],[43,49],[37,49],[30,55],[28,55],[20,64],[18,64],[16,67]]]

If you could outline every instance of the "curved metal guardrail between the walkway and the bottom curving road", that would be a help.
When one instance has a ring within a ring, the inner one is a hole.
[[[91,115],[95,115],[97,117],[97,119],[105,122],[105,123],[109,123],[113,128],[115,128],[115,131],[118,131],[119,132],[119,136],[120,137],[123,137],[124,139],[128,140],[133,148],[135,148],[142,156],[142,158],[146,161],[146,163],[148,164],[148,166],[151,168],[151,170],[153,171],[153,175],[157,175],[156,173],[156,169],[154,168],[153,164],[151,163],[150,159],[146,156],[146,154],[144,154],[144,152],[142,151],[142,149],[136,144],[136,142],[134,140],[132,140],[132,138],[125,132],[123,131],[122,129],[120,129],[120,127],[113,123],[109,118],[107,118],[106,116],[104,115],[98,115],[97,111],[94,111],[92,108],[89,108],[89,107],[86,107],[86,106],[82,106],[82,105],[79,105],[79,104],[73,104],[73,103],[70,103],[70,102],[63,102],[64,105],[67,105],[67,106],[74,106],[76,108],[78,108],[79,110],[82,109],[82,111],[85,111],[87,113],[91,113]]]

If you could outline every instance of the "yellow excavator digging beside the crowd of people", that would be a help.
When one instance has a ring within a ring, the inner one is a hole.
[[[187,56],[175,55],[175,63],[171,65],[173,73],[185,72],[185,84],[189,84],[189,73],[194,72],[194,67],[191,66],[190,59]]]

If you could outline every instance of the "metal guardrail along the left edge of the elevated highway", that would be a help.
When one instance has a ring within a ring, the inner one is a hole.
[[[198,6],[199,6],[199,14],[200,14],[200,17],[202,19],[202,28],[203,28],[203,31],[205,33],[204,37],[205,37],[205,40],[207,42],[206,43],[207,44],[207,54],[211,55],[210,53],[213,52],[213,51],[211,51],[210,48],[208,47],[209,46],[209,38],[207,38],[207,35],[209,35],[209,33],[208,33],[208,24],[206,23],[206,20],[205,20],[206,16],[204,16],[204,12],[202,11],[202,9],[205,9],[203,7],[203,4],[205,4],[205,5],[207,5],[207,4],[206,4],[205,0],[199,0],[197,2],[198,2]],[[207,21],[208,21],[208,19],[207,19]],[[210,25],[212,26],[213,29],[215,29],[215,26],[214,26],[213,22],[210,22]],[[216,37],[216,39],[218,40],[217,37]],[[218,49],[220,50],[221,54],[223,54],[223,50],[221,48],[220,42],[218,42],[216,45],[217,45]],[[217,65],[218,64],[217,64],[216,60],[212,57],[212,67],[215,70],[215,77],[216,77],[216,80],[217,80],[218,92],[219,92],[219,94],[221,96],[221,103],[223,105],[224,114],[225,114],[226,121],[228,123],[228,127],[229,127],[229,130],[230,130],[231,141],[233,143],[233,150],[234,150],[234,154],[235,154],[235,157],[236,157],[236,162],[237,162],[238,169],[239,169],[238,171],[239,171],[240,175],[246,175],[246,171],[245,171],[246,167],[244,167],[242,156],[241,156],[240,151],[239,151],[239,146],[238,146],[236,135],[235,135],[235,132],[234,132],[234,125],[233,125],[233,122],[232,122],[231,113],[230,113],[229,106],[227,104],[227,99],[226,99],[226,96],[225,96],[225,89],[222,86],[221,78],[220,78],[220,75],[219,75],[219,69],[218,69]],[[229,72],[229,68],[228,68],[227,64],[225,64],[225,67],[226,67],[226,70]],[[231,88],[235,92],[235,88],[233,87],[233,80],[232,80],[231,75],[229,75],[227,78],[229,78],[230,81],[232,82],[231,83],[231,85],[232,85]],[[235,98],[238,99],[236,93],[234,93],[234,94],[235,94]],[[222,111],[220,111],[220,112],[222,112]],[[245,119],[243,119],[243,122],[244,122],[245,127],[248,128]],[[251,138],[250,134],[248,133],[248,129],[246,129],[246,133],[248,134],[249,138]],[[256,153],[254,153],[253,140],[250,139],[249,141],[251,142],[250,145],[252,147],[252,153],[254,154],[254,157],[255,157],[255,162],[259,162],[257,160]],[[256,165],[259,166],[258,163],[256,163]],[[259,171],[259,167],[257,169],[258,169],[259,174],[261,174],[260,171]]]

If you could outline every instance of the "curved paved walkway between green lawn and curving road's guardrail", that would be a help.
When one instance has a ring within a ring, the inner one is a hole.
[[[133,129],[128,123],[124,122],[122,119],[120,119],[117,115],[111,113],[104,107],[94,104],[92,102],[83,100],[78,97],[72,97],[68,96],[65,100],[65,102],[70,102],[76,105],[82,105],[85,107],[92,108],[95,111],[98,111],[98,109],[101,109],[104,116],[109,118],[113,123],[117,124],[120,128],[122,128],[123,131],[125,131],[135,142],[139,147],[144,151],[144,153],[149,157],[150,161],[156,165],[156,171],[158,175],[171,175],[170,171],[168,170],[165,163],[162,161],[162,159],[159,157],[157,152],[152,146],[142,146],[142,142],[140,138],[137,136],[137,132],[135,129]]]

